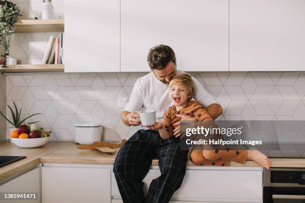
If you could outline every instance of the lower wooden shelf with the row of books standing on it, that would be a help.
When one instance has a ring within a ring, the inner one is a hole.
[[[5,73],[28,72],[64,72],[64,64],[20,64],[8,65],[5,68]]]

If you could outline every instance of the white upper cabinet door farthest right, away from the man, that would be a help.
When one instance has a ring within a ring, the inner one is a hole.
[[[305,0],[230,0],[230,71],[304,71]]]

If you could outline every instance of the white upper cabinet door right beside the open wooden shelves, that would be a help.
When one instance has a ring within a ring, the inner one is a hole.
[[[65,72],[120,71],[120,0],[65,0]]]

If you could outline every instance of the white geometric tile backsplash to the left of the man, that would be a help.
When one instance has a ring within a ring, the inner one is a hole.
[[[42,113],[29,120],[39,120],[42,127],[52,130],[53,140],[73,139],[73,125],[78,122],[102,123],[105,139],[120,140],[127,137],[132,128],[123,124],[122,109],[117,102],[129,97],[135,80],[143,75],[145,73],[7,74],[6,103],[16,102],[22,107],[23,116]],[[12,126],[7,123],[7,127]]]

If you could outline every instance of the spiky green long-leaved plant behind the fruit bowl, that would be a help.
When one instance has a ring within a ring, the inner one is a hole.
[[[5,120],[7,120],[7,122],[9,122],[10,124],[12,124],[15,128],[10,128],[9,129],[9,134],[11,133],[11,131],[17,129],[26,119],[34,116],[34,115],[37,115],[37,114],[41,114],[41,113],[34,113],[32,115],[29,115],[27,116],[26,118],[24,119],[20,119],[20,116],[21,116],[21,110],[22,108],[20,108],[20,110],[17,109],[17,106],[15,104],[15,102],[13,102],[14,104],[14,108],[15,108],[15,111],[13,111],[13,109],[7,105],[7,107],[9,108],[10,112],[11,112],[11,116],[12,116],[12,120],[9,120],[1,111],[0,111],[0,114],[3,116],[3,118]],[[36,122],[39,122],[39,121],[35,121],[35,122],[29,122],[29,124],[32,124],[32,123],[36,123]]]

